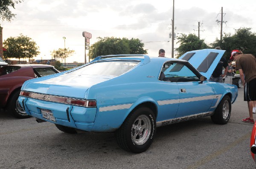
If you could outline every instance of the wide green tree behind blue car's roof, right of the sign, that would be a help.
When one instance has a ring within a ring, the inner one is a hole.
[[[147,54],[147,50],[143,49],[144,44],[140,39],[114,38],[114,37],[98,37],[98,42],[90,46],[89,57],[94,59],[97,56],[111,54]]]

